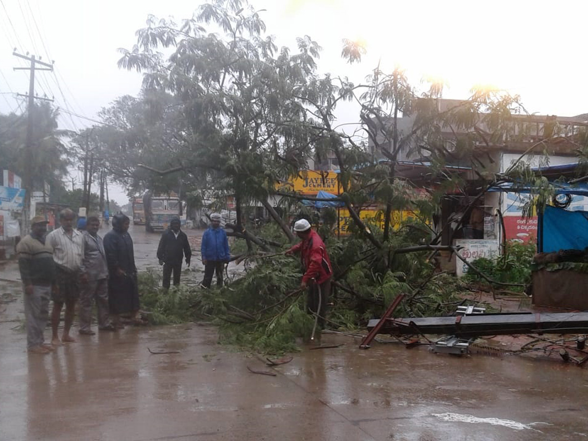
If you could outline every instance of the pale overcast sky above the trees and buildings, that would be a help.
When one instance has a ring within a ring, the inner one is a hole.
[[[588,112],[586,31],[588,2],[252,0],[268,34],[295,48],[310,35],[323,47],[322,72],[360,81],[379,59],[385,69],[407,69],[413,83],[426,76],[449,83],[446,98],[466,98],[476,84],[518,93],[529,112],[573,116]],[[116,67],[117,48],[131,48],[148,14],[188,18],[198,2],[174,0],[0,0],[0,112],[21,112],[13,92],[28,91],[19,52],[55,60],[55,74],[38,72],[36,93],[55,95],[62,128],[93,123],[117,96],[136,95],[141,76]],[[366,42],[362,65],[339,57],[343,38]],[[60,91],[61,88],[61,91]],[[341,122],[356,122],[346,105]],[[121,188],[111,197],[126,202]]]

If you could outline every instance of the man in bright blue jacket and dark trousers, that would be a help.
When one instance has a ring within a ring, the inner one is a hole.
[[[216,272],[216,285],[222,286],[222,273],[225,263],[229,263],[229,241],[226,232],[220,228],[219,213],[212,213],[211,226],[202,235],[202,263],[204,264],[204,280],[202,288],[210,288],[212,276]]]

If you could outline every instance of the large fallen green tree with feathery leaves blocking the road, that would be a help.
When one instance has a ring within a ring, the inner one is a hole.
[[[205,28],[211,23],[224,35],[211,36]],[[404,316],[453,312],[467,286],[434,262],[440,252],[462,259],[452,243],[464,216],[453,226],[436,222],[440,201],[447,192],[464,196],[467,212],[490,186],[530,179],[530,168],[515,164],[497,175],[489,153],[480,152],[480,146],[519,142],[527,135],[524,128],[515,130],[513,114],[524,113],[519,98],[480,89],[441,109],[443,85],[417,90],[401,69],[387,73],[380,66],[360,84],[320,75],[320,46],[309,36],[299,38],[297,51],[290,52],[262,38],[264,31],[259,11],[240,1],[217,1],[179,25],[151,17],[137,32],[136,47],[123,51],[119,65],[144,73],[138,101],[145,115],[121,105],[106,112],[114,127],[116,115],[133,116],[121,120],[135,123],[111,133],[109,139],[120,145],[105,161],[141,182],[153,178],[161,184],[180,173],[178,181],[192,185],[187,192],[202,192],[199,200],[212,200],[211,208],[232,198],[236,220],[228,234],[236,238],[233,254],[243,263],[242,275],[229,286],[172,290],[165,298],[153,276],[143,276],[153,320],[212,318],[223,341],[264,352],[293,349],[296,338],[309,336],[313,319],[296,289],[302,269],[281,253],[296,240],[291,220],[302,216],[318,226],[335,269],[328,326],[361,327],[399,293],[407,294],[399,309]],[[168,59],[162,48],[172,52]],[[360,61],[360,54],[357,45],[345,43],[349,62]],[[359,106],[353,133],[338,125],[336,108],[343,101]],[[161,102],[167,105],[162,108]],[[556,135],[546,134],[526,153],[549,145]],[[131,159],[120,154],[125,149],[134,152]],[[138,156],[146,159],[139,166]],[[326,158],[336,161],[342,186],[328,201],[342,203],[351,219],[341,238],[333,211],[301,203],[321,198],[279,190],[280,183],[305,171],[309,159]],[[422,172],[403,173],[407,158]],[[258,203],[271,225],[248,222],[246,212]],[[372,219],[362,215],[368,206],[377,207]],[[396,212],[410,212],[413,219],[396,223]],[[488,282],[500,282],[480,273]]]

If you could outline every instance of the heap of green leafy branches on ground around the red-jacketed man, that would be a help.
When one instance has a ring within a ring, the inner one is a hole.
[[[396,246],[415,239],[395,237],[399,239]],[[364,240],[331,236],[326,245],[335,272],[328,329],[364,329],[400,293],[406,294],[397,310],[401,316],[448,315],[463,303],[459,293],[466,290],[465,284],[435,272],[424,253],[395,256],[397,270],[392,272],[379,264],[379,251]],[[280,251],[287,247],[284,243]],[[237,241],[232,252],[243,249]],[[143,308],[151,312],[152,323],[212,320],[219,326],[222,343],[281,353],[296,350],[297,342],[308,339],[313,328],[313,316],[306,313],[306,292],[299,290],[301,270],[296,258],[256,254],[244,258],[240,276],[221,288],[181,286],[164,293],[159,276],[152,272],[142,273],[139,285]]]

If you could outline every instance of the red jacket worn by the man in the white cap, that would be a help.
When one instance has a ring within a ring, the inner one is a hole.
[[[300,252],[300,261],[305,268],[303,282],[309,284],[310,279],[315,279],[316,283],[323,283],[333,275],[325,243],[315,230],[311,230],[308,238],[296,243],[289,251]]]

